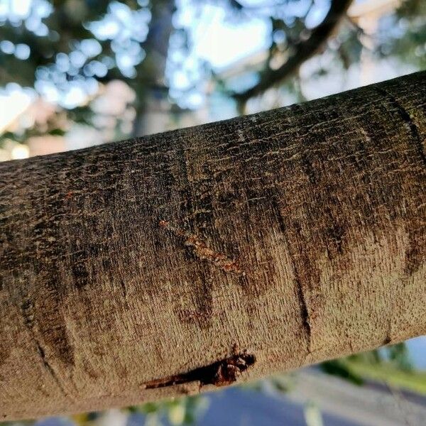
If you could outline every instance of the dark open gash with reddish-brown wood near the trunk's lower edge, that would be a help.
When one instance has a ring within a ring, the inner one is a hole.
[[[208,366],[195,368],[187,373],[181,373],[176,376],[159,378],[148,381],[143,384],[145,389],[165,388],[183,383],[199,382],[202,386],[227,386],[234,383],[241,376],[241,373],[247,370],[256,362],[256,356],[249,354],[246,350],[239,354],[234,354],[228,358],[216,361]]]

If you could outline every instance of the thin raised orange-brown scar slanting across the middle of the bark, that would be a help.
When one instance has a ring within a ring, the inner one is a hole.
[[[182,229],[175,228],[175,226],[170,225],[170,223],[166,220],[160,220],[158,224],[162,228],[170,231],[173,235],[184,239],[185,246],[192,249],[192,252],[195,254],[195,256],[197,256],[197,258],[208,261],[209,263],[212,263],[213,266],[216,266],[217,268],[222,269],[222,271],[227,273],[235,273],[236,275],[242,276],[246,275],[246,273],[241,270],[239,264],[236,261],[224,255],[223,253],[219,253],[213,249],[210,249],[207,244],[205,244],[203,241],[200,241],[198,236],[190,234],[189,232],[186,232]]]

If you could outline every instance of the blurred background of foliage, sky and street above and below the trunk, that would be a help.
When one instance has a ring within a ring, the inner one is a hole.
[[[425,68],[426,0],[0,0],[0,160]],[[426,338],[202,396],[35,424],[426,425]]]

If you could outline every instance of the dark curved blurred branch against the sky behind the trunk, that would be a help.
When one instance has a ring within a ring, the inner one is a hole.
[[[324,21],[312,30],[307,40],[300,41],[295,45],[295,53],[276,70],[268,67],[261,73],[260,80],[253,87],[247,89],[245,92],[233,94],[234,99],[240,104],[244,104],[251,97],[265,92],[274,84],[282,82],[286,77],[293,74],[305,60],[315,55],[330,35],[332,35],[350,4],[351,0],[332,0]]]

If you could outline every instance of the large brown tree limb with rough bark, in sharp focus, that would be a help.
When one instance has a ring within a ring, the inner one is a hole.
[[[1,417],[425,333],[425,83],[1,163]]]

